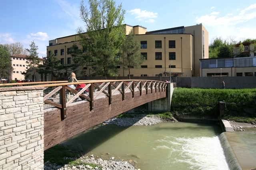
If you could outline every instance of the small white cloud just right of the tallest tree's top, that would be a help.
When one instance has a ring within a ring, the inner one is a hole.
[[[153,19],[149,19],[147,20],[148,18],[157,18],[158,17],[158,14],[157,12],[154,13],[154,12],[149,12],[149,11],[146,11],[146,10],[143,10],[141,11],[140,9],[134,9],[134,10],[127,10],[127,12],[131,13],[132,15],[136,15],[136,19],[138,19],[139,21],[145,21],[145,22],[149,22],[149,23],[152,23],[154,22]]]

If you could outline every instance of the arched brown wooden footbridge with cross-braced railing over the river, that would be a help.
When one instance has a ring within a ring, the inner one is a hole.
[[[80,90],[68,85],[85,84]],[[166,98],[167,83],[155,80],[80,80],[13,86],[44,87],[44,150],[142,104]],[[71,95],[66,101],[66,90]]]

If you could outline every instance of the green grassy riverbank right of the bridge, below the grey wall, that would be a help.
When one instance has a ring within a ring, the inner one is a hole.
[[[219,115],[218,103],[226,102],[224,119],[238,122],[256,121],[256,89],[200,89],[175,88],[172,113]]]

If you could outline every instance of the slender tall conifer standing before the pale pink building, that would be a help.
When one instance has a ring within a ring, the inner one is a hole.
[[[28,54],[26,55],[28,59],[28,70],[26,70],[25,77],[27,78],[29,75],[32,74],[32,71],[34,71],[35,80],[36,80],[36,70],[38,69],[38,64],[40,63],[40,58],[38,57],[38,46],[34,43],[34,41],[31,42],[29,45],[30,49],[27,49]]]

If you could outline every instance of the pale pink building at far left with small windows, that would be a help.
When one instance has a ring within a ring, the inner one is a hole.
[[[26,70],[28,69],[28,59],[26,57],[26,55],[11,55],[10,56],[11,59],[11,64],[12,64],[12,68],[14,68],[14,70],[11,72],[11,74],[7,77],[8,80],[25,80],[25,74],[26,74]],[[40,59],[41,61],[45,60],[45,59]],[[49,81],[50,79],[48,78],[48,75],[44,76],[44,75],[40,75],[37,73],[36,78],[38,81]],[[28,78],[28,80],[35,80],[35,76],[34,74]],[[28,81],[26,80],[26,81]]]

